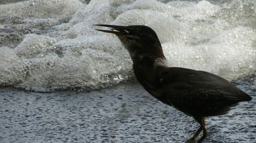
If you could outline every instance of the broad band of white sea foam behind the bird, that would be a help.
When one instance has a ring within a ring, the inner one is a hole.
[[[249,0],[30,0],[0,5],[0,85],[41,92],[95,90],[132,78],[132,61],[121,42],[95,31],[94,24],[152,27],[170,66],[229,80],[253,75],[255,9],[256,2]]]

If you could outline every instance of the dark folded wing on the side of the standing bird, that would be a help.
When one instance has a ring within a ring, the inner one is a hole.
[[[156,98],[187,115],[224,115],[234,103],[251,99],[226,79],[204,71],[171,67],[158,77]]]

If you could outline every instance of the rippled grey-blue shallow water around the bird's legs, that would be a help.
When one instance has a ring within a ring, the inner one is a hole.
[[[252,101],[207,118],[204,142],[256,142],[256,94],[248,81],[233,83]],[[0,106],[0,142],[185,142],[199,127],[138,83],[89,93],[1,89]]]

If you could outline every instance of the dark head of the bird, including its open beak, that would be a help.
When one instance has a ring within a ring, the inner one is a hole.
[[[118,26],[97,24],[109,27],[110,30],[98,30],[115,34],[129,51],[132,59],[135,56],[153,56],[154,59],[165,59],[161,43],[152,28],[144,25]]]

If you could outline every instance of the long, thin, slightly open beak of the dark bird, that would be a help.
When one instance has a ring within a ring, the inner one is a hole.
[[[98,30],[95,29],[97,31],[101,31],[101,32],[106,32],[106,33],[113,33],[116,35],[127,35],[130,32],[130,28],[128,26],[118,26],[118,25],[106,25],[106,24],[96,24],[95,26],[104,26],[104,27],[109,27],[110,30]]]

